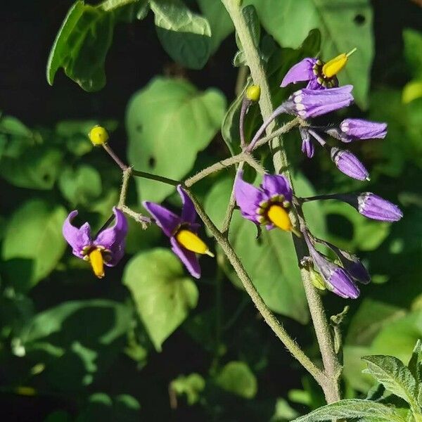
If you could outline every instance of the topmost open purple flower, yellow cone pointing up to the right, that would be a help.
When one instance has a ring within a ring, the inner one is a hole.
[[[350,53],[343,53],[324,63],[318,58],[307,57],[293,65],[286,73],[281,82],[281,87],[297,82],[308,82],[308,89],[326,89],[338,87],[338,79],[335,75],[342,70],[349,58],[356,49]]]

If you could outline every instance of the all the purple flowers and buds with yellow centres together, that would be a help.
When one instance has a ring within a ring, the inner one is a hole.
[[[317,58],[305,58],[294,65],[284,77],[281,86],[285,87],[296,82],[308,82],[307,87],[295,91],[281,106],[276,108],[271,117],[262,124],[249,145],[246,145],[243,120],[245,114],[248,113],[250,103],[260,98],[260,87],[249,87],[245,91],[240,118],[243,154],[252,153],[260,136],[275,117],[281,113],[290,113],[300,117],[299,131],[302,138],[302,152],[307,157],[312,158],[315,145],[319,144],[328,148],[331,160],[341,172],[354,179],[369,180],[369,172],[362,162],[347,149],[339,146],[328,147],[326,136],[331,136],[341,143],[374,138],[382,139],[387,133],[385,123],[347,118],[339,124],[321,127],[309,121],[313,117],[347,107],[353,102],[352,85],[338,87],[338,79],[335,76],[345,66],[349,56],[350,53],[341,54],[327,63],[323,63]],[[94,127],[89,138],[95,145],[102,145],[120,165],[124,172],[123,185],[126,186],[125,174],[130,174],[132,169],[122,165],[122,162],[108,146],[106,129]],[[189,273],[198,279],[200,277],[198,255],[210,255],[211,257],[214,255],[198,236],[200,225],[196,222],[197,213],[190,194],[181,185],[177,186],[177,191],[182,203],[180,215],[158,203],[149,201],[144,201],[143,207],[153,218],[152,221],[170,238],[173,252]],[[369,283],[369,273],[356,255],[313,236],[302,217],[301,205],[310,200],[335,199],[352,205],[360,214],[370,219],[395,222],[402,218],[402,211],[397,205],[370,192],[357,195],[338,193],[310,198],[295,197],[289,180],[281,174],[264,174],[260,186],[255,187],[243,179],[243,172],[240,170],[234,183],[234,197],[245,219],[257,226],[265,226],[267,230],[281,229],[302,237],[309,252],[302,264],[309,266],[314,285],[322,289],[328,288],[342,298],[357,298],[359,296],[357,282]],[[63,236],[72,246],[73,254],[87,260],[91,264],[94,274],[99,278],[104,276],[104,266],[115,266],[124,255],[127,221],[122,212],[124,205],[121,201],[119,204],[119,208],[113,208],[113,226],[108,227],[106,224],[106,227],[101,229],[96,236],[91,236],[91,228],[88,223],[84,223],[79,228],[72,225],[72,220],[77,216],[76,210],[70,212],[63,224]],[[151,220],[148,219],[148,222]],[[317,244],[331,250],[331,255],[334,255],[335,258],[331,259],[328,255],[320,252],[321,248],[318,250]]]

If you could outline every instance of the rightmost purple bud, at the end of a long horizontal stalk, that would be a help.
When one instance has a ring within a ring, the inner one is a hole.
[[[397,205],[371,192],[361,193],[357,197],[357,210],[367,218],[382,222],[397,222],[403,217]]]

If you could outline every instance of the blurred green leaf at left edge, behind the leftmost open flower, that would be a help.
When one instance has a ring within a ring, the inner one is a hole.
[[[30,260],[32,271],[27,280],[30,286],[48,276],[63,255],[62,225],[66,216],[63,207],[51,206],[39,199],[28,200],[13,213],[4,235],[1,256],[4,260]],[[18,278],[14,282],[25,280]]]

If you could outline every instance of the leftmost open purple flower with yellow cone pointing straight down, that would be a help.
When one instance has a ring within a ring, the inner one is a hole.
[[[91,237],[89,223],[84,223],[79,229],[72,225],[72,219],[77,216],[77,210],[70,212],[63,223],[63,236],[72,246],[73,255],[89,261],[94,274],[99,278],[104,276],[104,264],[114,267],[124,255],[124,241],[127,234],[127,221],[123,212],[113,207],[115,224],[101,230],[96,238]]]

